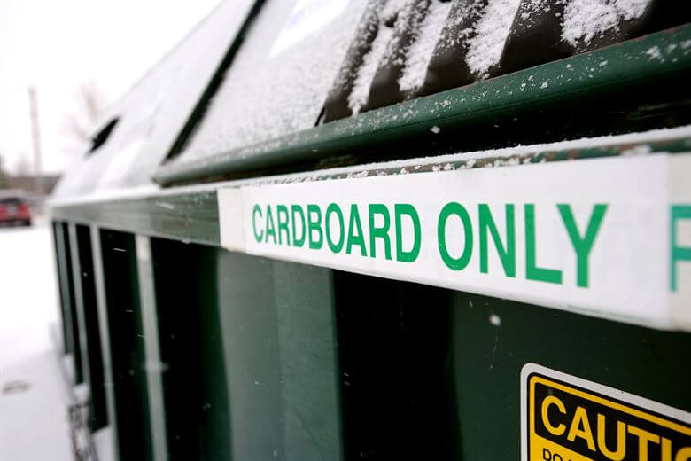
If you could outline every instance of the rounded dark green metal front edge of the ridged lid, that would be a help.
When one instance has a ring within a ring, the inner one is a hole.
[[[463,150],[478,148],[477,142],[484,148],[498,146],[488,144],[497,138],[513,143],[540,137],[559,140],[574,124],[587,127],[574,131],[583,136],[597,133],[598,128],[605,133],[631,131],[637,125],[648,126],[646,119],[659,126],[657,112],[679,111],[687,105],[683,75],[691,70],[691,50],[684,46],[689,39],[691,26],[677,27],[210,158],[171,161],[159,168],[154,179],[170,185],[280,166],[290,165],[287,168],[294,171],[305,162],[334,157],[338,161],[344,155],[372,159],[377,150],[400,158],[409,153],[405,146],[411,143],[426,146],[430,154],[439,144],[453,141],[459,147],[456,137],[462,137]],[[634,92],[639,98],[631,98]],[[586,99],[591,105],[583,104]],[[605,117],[617,111],[623,118]],[[602,117],[602,122],[594,123]],[[558,123],[550,124],[550,119]],[[438,127],[442,136],[432,133],[432,127]]]

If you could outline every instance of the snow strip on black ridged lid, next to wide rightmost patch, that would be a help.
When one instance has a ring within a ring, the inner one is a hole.
[[[499,64],[520,3],[520,0],[489,0],[473,27],[476,35],[468,40],[466,64],[473,74],[486,78],[489,70]]]

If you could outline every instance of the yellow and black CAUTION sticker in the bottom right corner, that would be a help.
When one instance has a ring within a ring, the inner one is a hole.
[[[691,461],[691,414],[528,363],[523,461]]]

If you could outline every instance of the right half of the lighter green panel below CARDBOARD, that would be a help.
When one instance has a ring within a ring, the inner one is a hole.
[[[342,459],[332,271],[273,262],[289,461]]]

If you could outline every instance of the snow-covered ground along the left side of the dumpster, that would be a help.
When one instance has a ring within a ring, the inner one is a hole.
[[[0,228],[0,460],[73,459],[57,323],[49,228]]]

